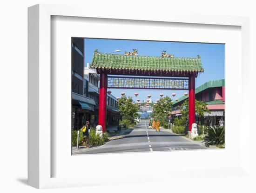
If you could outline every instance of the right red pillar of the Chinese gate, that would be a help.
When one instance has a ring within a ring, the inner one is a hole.
[[[195,123],[195,74],[189,76],[189,138],[192,124]]]

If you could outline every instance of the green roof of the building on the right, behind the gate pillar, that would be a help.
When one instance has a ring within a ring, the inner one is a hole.
[[[201,86],[198,86],[197,88],[195,88],[195,94],[202,92],[203,90],[206,90],[208,88],[213,88],[213,87],[221,87],[221,86],[225,86],[225,80],[221,79],[221,80],[213,80],[213,81],[208,81],[204,84],[202,84]],[[173,105],[176,103],[180,103],[181,101],[184,101],[185,99],[189,98],[189,96],[182,96],[179,98],[178,101],[174,101]]]

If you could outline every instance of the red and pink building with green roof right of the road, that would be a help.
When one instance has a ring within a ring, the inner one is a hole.
[[[188,96],[182,96],[178,101],[172,104],[170,118],[181,116],[181,105],[188,99]],[[225,118],[225,81],[209,81],[195,89],[195,99],[207,104],[210,113],[205,112],[204,117],[196,116],[196,122],[204,125],[218,125],[220,119]]]

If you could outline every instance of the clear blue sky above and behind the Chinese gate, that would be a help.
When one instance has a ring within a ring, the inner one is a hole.
[[[183,43],[183,42],[159,42],[159,41],[139,41],[139,40],[115,40],[115,39],[85,39],[85,65],[91,64],[93,52],[98,49],[100,52],[111,52],[121,50],[117,54],[124,54],[124,51],[132,51],[136,48],[138,55],[161,56],[161,51],[174,54],[175,57],[196,57],[201,56],[203,73],[199,73],[195,80],[195,87],[198,87],[210,80],[224,79],[224,49],[223,44],[204,44],[204,43]],[[124,91],[127,96],[133,96],[136,100],[141,101],[147,98],[148,94],[152,95],[152,100],[160,98],[159,94],[171,96],[173,92],[176,97],[183,96],[186,90],[121,90],[111,89],[112,95],[121,96]],[[139,96],[135,97],[134,93],[138,92]],[[172,96],[171,96],[172,97]],[[174,99],[174,97],[172,97]]]

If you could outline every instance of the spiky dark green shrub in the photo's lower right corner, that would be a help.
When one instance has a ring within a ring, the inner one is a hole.
[[[223,126],[208,126],[206,131],[207,135],[205,135],[203,138],[205,146],[209,147],[209,145],[219,145],[225,143],[225,129]]]

